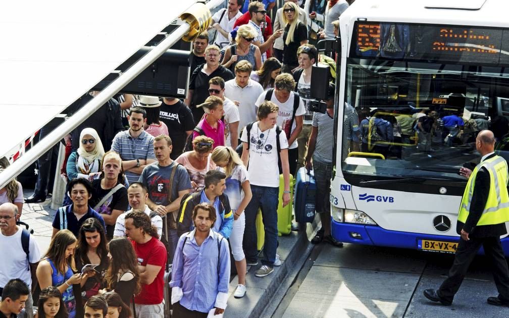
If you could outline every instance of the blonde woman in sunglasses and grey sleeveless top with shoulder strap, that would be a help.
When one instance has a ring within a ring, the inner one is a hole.
[[[249,24],[239,26],[235,44],[231,45],[224,52],[222,65],[235,73],[235,65],[240,61],[247,61],[253,65],[255,70],[262,67],[262,53],[260,48],[253,44],[258,33]]]

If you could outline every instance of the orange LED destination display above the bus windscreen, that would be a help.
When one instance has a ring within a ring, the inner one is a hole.
[[[509,64],[509,30],[492,27],[359,22],[351,56]]]

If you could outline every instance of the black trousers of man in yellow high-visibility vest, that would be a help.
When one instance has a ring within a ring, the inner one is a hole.
[[[453,301],[454,295],[458,292],[468,267],[481,245],[484,247],[486,257],[491,261],[493,279],[499,293],[498,297],[502,301],[509,301],[509,270],[499,237],[470,238],[469,241],[460,239],[453,267],[450,268],[447,279],[438,290],[440,297],[446,301]]]

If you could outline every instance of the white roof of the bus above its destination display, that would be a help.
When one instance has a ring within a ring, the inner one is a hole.
[[[357,0],[340,20],[509,27],[507,0]]]

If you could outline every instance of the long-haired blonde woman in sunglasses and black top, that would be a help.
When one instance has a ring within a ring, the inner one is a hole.
[[[283,34],[283,68],[282,72],[292,73],[299,66],[297,49],[307,44],[307,27],[299,21],[299,7],[293,2],[287,2],[283,6],[282,20],[285,26]]]

